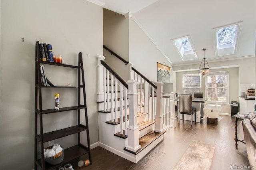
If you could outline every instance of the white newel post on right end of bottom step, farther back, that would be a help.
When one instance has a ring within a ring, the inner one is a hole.
[[[164,131],[163,128],[163,113],[162,113],[162,100],[163,100],[163,85],[164,83],[158,82],[156,83],[156,116],[155,116],[155,129],[154,132],[161,133]]]

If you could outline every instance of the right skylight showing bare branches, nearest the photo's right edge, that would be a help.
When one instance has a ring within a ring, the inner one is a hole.
[[[214,28],[215,53],[217,56],[234,54],[240,33],[240,24]]]

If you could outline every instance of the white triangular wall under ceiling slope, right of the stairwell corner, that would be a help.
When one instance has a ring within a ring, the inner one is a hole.
[[[129,37],[129,61],[140,73],[150,81],[157,81],[158,62],[171,67],[173,78],[172,65],[132,18],[129,24]]]

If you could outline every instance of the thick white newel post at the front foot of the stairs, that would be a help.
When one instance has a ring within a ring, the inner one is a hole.
[[[129,126],[127,127],[128,144],[126,149],[136,152],[140,149],[139,144],[139,127],[137,125],[137,85],[138,81],[128,80],[129,96]]]

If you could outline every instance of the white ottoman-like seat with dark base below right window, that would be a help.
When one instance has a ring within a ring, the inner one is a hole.
[[[218,124],[218,117],[221,111],[221,105],[206,105],[204,107],[204,114],[207,117],[207,123]]]

